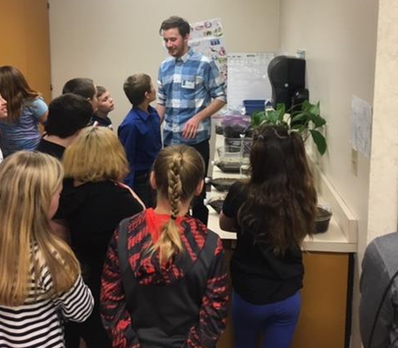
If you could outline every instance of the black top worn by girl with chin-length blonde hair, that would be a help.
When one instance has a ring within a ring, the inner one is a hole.
[[[109,240],[118,224],[143,210],[125,187],[113,181],[74,186],[63,181],[59,209],[54,219],[65,219],[72,249],[83,268],[90,289],[98,291]]]

